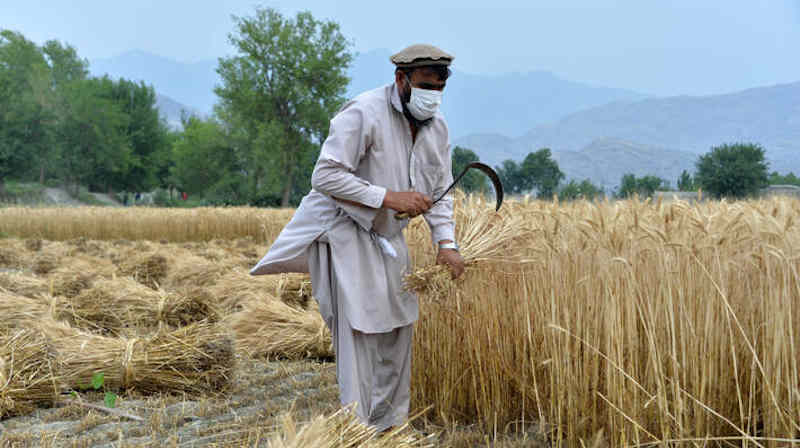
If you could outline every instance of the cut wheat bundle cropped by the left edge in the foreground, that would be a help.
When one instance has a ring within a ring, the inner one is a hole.
[[[59,394],[55,353],[30,329],[0,331],[0,418],[26,413]]]

